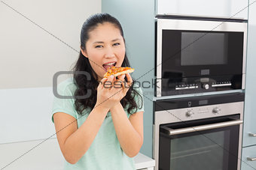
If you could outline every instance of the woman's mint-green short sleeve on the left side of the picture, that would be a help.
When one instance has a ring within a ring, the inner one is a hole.
[[[53,107],[52,107],[52,121],[53,115],[56,112],[64,112],[66,114],[72,115],[74,118],[77,119],[76,111],[75,111],[75,99],[70,98],[73,96],[72,84],[66,84],[65,82],[60,83],[57,86],[58,94],[61,97],[54,96],[53,98]],[[69,97],[69,98],[63,98]],[[54,121],[53,121],[54,123]]]

